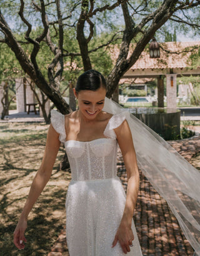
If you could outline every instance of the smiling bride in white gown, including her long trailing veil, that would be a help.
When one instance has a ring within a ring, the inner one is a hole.
[[[41,167],[14,231],[16,247],[24,248],[27,216],[51,176],[63,142],[72,174],[66,196],[66,238],[71,256],[142,255],[132,218],[138,167],[168,202],[194,255],[200,256],[199,171],[156,132],[107,99],[101,73],[83,73],[74,93],[78,110],[68,115],[51,112]],[[116,176],[117,142],[128,173],[127,195]]]

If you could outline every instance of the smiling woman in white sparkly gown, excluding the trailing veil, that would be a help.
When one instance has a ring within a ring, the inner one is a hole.
[[[51,112],[44,157],[14,231],[14,243],[24,248],[27,216],[51,177],[63,142],[72,173],[66,197],[69,255],[142,255],[133,223],[139,173],[128,114],[103,111],[106,81],[95,70],[78,78],[74,95],[78,110],[68,115]],[[117,142],[128,174],[127,195],[116,175]]]

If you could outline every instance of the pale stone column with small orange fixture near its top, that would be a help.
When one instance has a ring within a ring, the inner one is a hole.
[[[176,76],[177,74],[166,75],[167,107],[176,109]]]

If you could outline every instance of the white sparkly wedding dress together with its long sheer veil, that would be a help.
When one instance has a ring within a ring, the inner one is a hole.
[[[167,201],[194,248],[194,255],[200,256],[200,172],[156,132],[115,102],[106,98],[103,110],[113,114],[104,131],[107,139],[90,142],[66,142],[64,115],[51,112],[51,122],[65,144],[72,171],[66,197],[70,256],[124,255],[119,242],[116,248],[110,248],[126,200],[116,176],[117,142],[113,130],[124,119],[128,120],[132,132],[139,169]],[[140,256],[134,223],[132,228],[134,246],[128,255]]]

